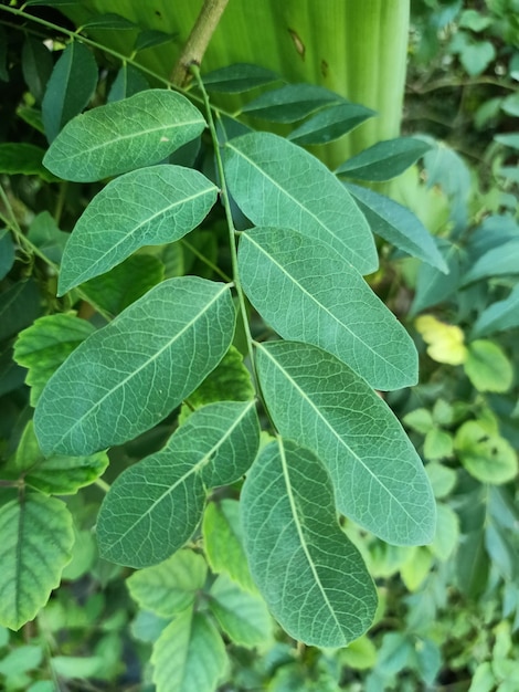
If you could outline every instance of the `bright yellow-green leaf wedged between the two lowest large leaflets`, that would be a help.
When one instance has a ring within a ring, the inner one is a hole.
[[[246,591],[255,591],[243,547],[240,503],[230,497],[210,502],[203,514],[202,536],[211,569],[227,574]]]

